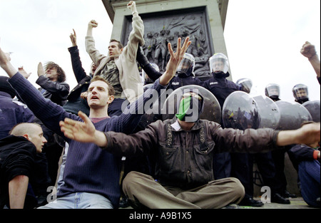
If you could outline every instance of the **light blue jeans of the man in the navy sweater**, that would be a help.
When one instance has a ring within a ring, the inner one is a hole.
[[[39,209],[113,209],[113,205],[106,197],[98,194],[76,192],[58,197]]]

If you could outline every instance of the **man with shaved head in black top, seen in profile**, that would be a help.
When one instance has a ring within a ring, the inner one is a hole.
[[[36,153],[47,142],[39,124],[19,123],[0,140],[0,208],[34,208],[36,200],[29,178],[32,177]]]

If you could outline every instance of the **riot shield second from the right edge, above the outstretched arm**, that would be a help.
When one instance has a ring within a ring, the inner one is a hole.
[[[281,118],[277,130],[296,130],[305,121],[312,121],[312,117],[303,105],[290,103],[284,100],[275,102],[280,109]]]

